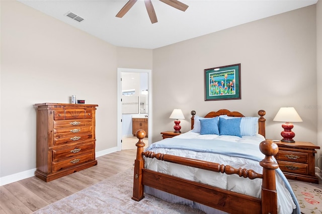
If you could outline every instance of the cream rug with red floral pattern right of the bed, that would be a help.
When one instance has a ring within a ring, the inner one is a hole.
[[[307,183],[290,181],[297,201],[301,207],[301,213],[322,213],[322,188]]]

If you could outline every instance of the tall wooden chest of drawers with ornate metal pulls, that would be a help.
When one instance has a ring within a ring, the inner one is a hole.
[[[96,104],[38,103],[36,177],[48,182],[97,165]]]

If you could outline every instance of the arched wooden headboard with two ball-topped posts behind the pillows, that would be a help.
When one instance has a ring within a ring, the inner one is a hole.
[[[193,125],[195,123],[196,111],[191,111],[190,114],[192,115],[191,129],[193,129]],[[265,138],[265,121],[266,121],[266,119],[264,118],[264,116],[266,115],[266,112],[264,110],[260,110],[260,111],[258,111],[257,114],[260,116],[260,118],[258,119],[258,133],[263,135]],[[209,112],[204,118],[214,118],[219,115],[227,115],[229,117],[245,117],[243,114],[241,114],[239,112],[230,112],[229,110],[221,109],[217,112]]]

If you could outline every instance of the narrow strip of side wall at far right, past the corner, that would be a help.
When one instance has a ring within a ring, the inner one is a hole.
[[[316,157],[322,156],[322,1],[316,3],[316,67],[317,75],[317,145],[321,147]],[[315,158],[317,159],[317,158]],[[322,167],[322,157],[319,158],[318,166]]]

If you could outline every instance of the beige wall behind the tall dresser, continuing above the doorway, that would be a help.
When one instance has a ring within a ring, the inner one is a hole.
[[[151,69],[152,50],[118,48],[19,2],[1,1],[0,177],[36,167],[34,103],[68,103],[76,94],[98,104],[96,152],[116,149],[118,67]]]

